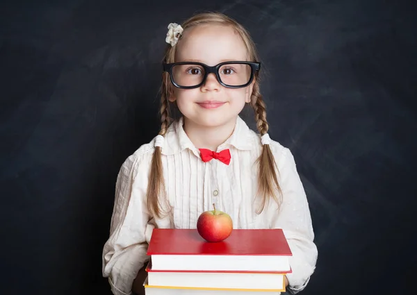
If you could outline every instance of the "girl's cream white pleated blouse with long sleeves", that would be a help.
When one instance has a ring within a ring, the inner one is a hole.
[[[212,210],[213,203],[231,216],[234,228],[282,228],[293,252],[287,290],[295,294],[304,289],[316,268],[318,250],[313,243],[309,204],[291,151],[271,140],[283,202],[280,212],[271,200],[261,214],[256,214],[255,161],[263,147],[260,136],[238,117],[234,133],[218,147],[218,151],[230,149],[231,162],[225,165],[215,159],[203,162],[182,126],[183,120],[179,119],[168,128],[162,147],[172,214],[158,219],[147,210],[145,196],[155,138],[130,155],[117,176],[102,269],[113,294],[131,294],[133,280],[149,260],[146,253],[153,228],[196,228],[199,214]]]

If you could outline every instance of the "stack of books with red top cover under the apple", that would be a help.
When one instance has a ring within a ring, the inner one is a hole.
[[[206,242],[194,229],[155,228],[147,255],[146,295],[277,295],[292,253],[281,229],[234,229]]]

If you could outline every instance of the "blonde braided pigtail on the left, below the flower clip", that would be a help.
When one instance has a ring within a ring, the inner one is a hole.
[[[161,95],[161,131],[159,135],[164,136],[170,126],[170,106],[168,105],[167,92],[165,87],[162,87]],[[152,156],[152,165],[149,171],[149,181],[147,189],[147,208],[150,213],[161,217],[161,197],[160,194],[165,194],[165,184],[163,181],[163,167],[161,160],[161,146],[155,146],[154,155]],[[167,201],[165,199],[165,201]]]

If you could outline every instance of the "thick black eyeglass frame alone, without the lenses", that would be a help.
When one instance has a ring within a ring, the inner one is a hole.
[[[222,67],[223,65],[233,65],[233,64],[244,64],[244,65],[249,65],[251,67],[251,73],[250,73],[250,79],[246,84],[243,85],[227,85],[224,82],[222,82],[222,79],[220,78],[220,74],[219,74],[219,69],[220,67]],[[204,83],[206,83],[206,79],[208,74],[215,74],[215,77],[217,78],[218,82],[220,83],[220,85],[227,87],[227,88],[243,88],[246,87],[247,85],[250,85],[250,83],[252,83],[252,81],[254,80],[254,76],[256,71],[259,71],[261,69],[261,62],[247,62],[247,61],[227,61],[227,62],[220,62],[218,65],[213,65],[208,66],[202,62],[172,62],[172,63],[166,63],[163,62],[163,71],[167,71],[168,74],[170,74],[170,80],[172,85],[174,85],[177,88],[180,89],[194,89],[194,88],[198,88],[198,87],[202,87],[202,85],[204,85]],[[194,86],[181,86],[177,83],[175,83],[174,78],[172,77],[172,68],[176,65],[199,65],[201,67],[203,67],[204,69],[204,77],[202,79],[202,82],[194,85]]]

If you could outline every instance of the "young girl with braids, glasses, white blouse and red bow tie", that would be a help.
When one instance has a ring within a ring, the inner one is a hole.
[[[284,230],[293,252],[286,285],[295,294],[309,282],[318,251],[293,155],[268,136],[254,42],[218,13],[168,29],[161,131],[120,169],[103,275],[115,295],[143,292],[152,229],[196,228],[215,203],[234,228]],[[246,103],[260,134],[239,117]],[[170,104],[181,112],[173,123]]]

